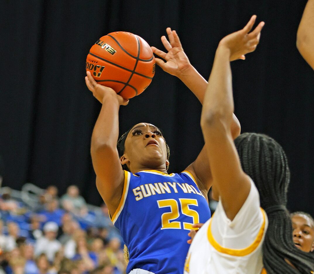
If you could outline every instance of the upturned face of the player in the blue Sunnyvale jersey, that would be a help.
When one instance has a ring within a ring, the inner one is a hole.
[[[124,156],[130,168],[166,168],[167,149],[160,130],[149,123],[136,124],[128,133],[124,144]]]

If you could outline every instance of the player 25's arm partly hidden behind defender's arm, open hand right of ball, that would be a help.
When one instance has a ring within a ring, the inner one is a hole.
[[[203,104],[208,82],[191,65],[187,55],[184,53],[176,31],[167,28],[166,32],[169,41],[165,36],[161,37],[161,41],[168,53],[152,47],[154,54],[166,60],[165,62],[160,58],[155,58],[157,65],[169,74],[178,77],[193,92],[201,104]],[[232,114],[232,117],[231,130],[232,136],[235,139],[239,136],[241,127],[236,116]],[[194,175],[205,194],[211,186],[211,173],[205,148],[199,153],[197,159],[187,167],[187,170]]]

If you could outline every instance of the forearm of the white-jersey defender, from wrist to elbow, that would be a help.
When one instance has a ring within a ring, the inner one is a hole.
[[[212,124],[213,119],[224,119],[230,126],[233,120],[232,76],[228,49],[218,47],[213,69],[206,88],[201,123]]]

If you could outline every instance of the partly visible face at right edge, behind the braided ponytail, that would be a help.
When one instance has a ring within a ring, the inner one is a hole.
[[[314,227],[305,215],[295,215],[291,219],[293,242],[295,246],[305,252],[314,250]]]

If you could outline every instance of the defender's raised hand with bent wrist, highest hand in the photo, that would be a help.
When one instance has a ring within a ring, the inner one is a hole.
[[[250,32],[255,20],[256,15],[253,15],[243,29],[227,35],[219,42],[218,49],[225,48],[229,50],[230,61],[237,59],[245,60],[245,54],[256,49],[261,36],[261,30],[265,23],[260,22],[255,30]]]

